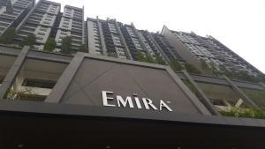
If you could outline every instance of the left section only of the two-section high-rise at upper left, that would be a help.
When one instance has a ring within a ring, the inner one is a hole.
[[[36,36],[34,47],[42,50],[49,35],[57,32],[54,27],[60,17],[60,9],[61,4],[40,0],[17,28],[16,40],[23,41],[28,34],[34,34]]]

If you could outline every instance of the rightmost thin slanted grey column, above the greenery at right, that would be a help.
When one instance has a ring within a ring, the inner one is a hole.
[[[230,78],[226,77],[225,75],[223,75],[223,78],[225,78],[226,81],[231,85],[231,87],[232,87],[237,93],[239,93],[239,95],[241,96],[241,98],[242,98],[244,101],[246,101],[247,103],[249,103],[252,107],[260,109],[260,108],[254,103],[254,101],[250,100],[250,99],[247,97],[247,95],[246,95],[244,92],[242,92],[242,91],[240,90],[240,88],[239,88],[237,85],[235,85],[235,84],[231,81]]]

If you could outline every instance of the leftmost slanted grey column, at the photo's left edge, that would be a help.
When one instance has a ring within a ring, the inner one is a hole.
[[[5,94],[8,92],[8,90],[14,83],[15,79],[18,77],[19,71],[21,70],[21,67],[27,57],[28,49],[29,47],[25,46],[21,50],[21,52],[19,53],[19,56],[17,57],[15,62],[12,64],[11,69],[8,71],[6,77],[4,78],[2,86],[0,87],[0,99],[4,98]]]

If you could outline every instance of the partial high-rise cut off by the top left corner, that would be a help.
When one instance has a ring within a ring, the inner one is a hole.
[[[34,7],[34,0],[1,0],[0,1],[0,35],[7,28],[16,28]]]

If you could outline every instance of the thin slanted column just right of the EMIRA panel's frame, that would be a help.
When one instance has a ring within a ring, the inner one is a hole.
[[[192,85],[196,88],[196,90],[201,94],[201,97],[204,101],[202,103],[208,108],[208,110],[213,115],[220,115],[219,112],[216,110],[215,106],[212,104],[212,102],[208,99],[208,96],[201,90],[201,88],[197,85],[197,83],[193,80],[193,78],[188,74],[187,71],[182,71],[185,75],[185,77],[188,79],[189,82],[192,83]]]

